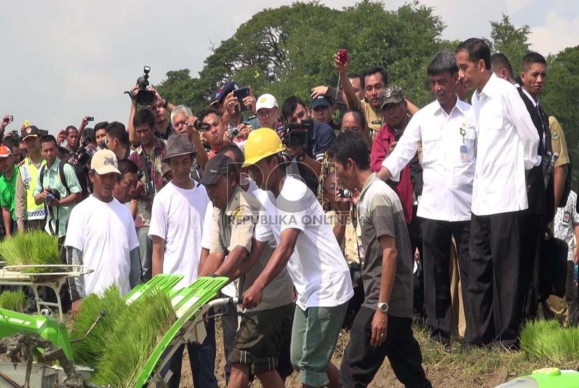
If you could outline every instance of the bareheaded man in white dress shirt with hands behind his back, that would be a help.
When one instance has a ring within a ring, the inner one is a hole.
[[[541,163],[539,135],[516,88],[490,71],[490,49],[470,38],[456,47],[459,77],[476,89],[476,167],[467,295],[473,345],[518,346],[521,290],[520,211],[527,209],[527,170]]]

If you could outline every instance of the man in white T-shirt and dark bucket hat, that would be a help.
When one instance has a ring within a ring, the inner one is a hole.
[[[171,167],[173,179],[153,200],[149,238],[153,240],[153,276],[181,274],[179,287],[187,287],[197,279],[201,255],[203,221],[209,197],[202,186],[190,177],[193,145],[185,133],[167,141],[163,162]],[[188,343],[189,361],[195,388],[217,388],[215,368],[215,322],[205,324],[207,337],[201,345]],[[184,346],[170,362],[173,372],[169,387],[179,387]],[[168,369],[168,368],[167,368]],[[166,371],[164,371],[166,372]]]

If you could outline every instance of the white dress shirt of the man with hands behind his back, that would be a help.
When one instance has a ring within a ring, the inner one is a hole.
[[[477,216],[529,207],[525,170],[541,163],[539,135],[516,87],[494,74],[472,96],[476,116],[476,170],[472,213]]]

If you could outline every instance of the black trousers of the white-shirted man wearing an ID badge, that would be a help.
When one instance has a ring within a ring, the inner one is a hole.
[[[458,251],[458,267],[463,295],[467,294],[469,267],[470,221],[437,221],[422,219],[424,244],[424,301],[430,323],[430,339],[447,344],[451,340],[452,301],[449,276],[451,238]],[[469,329],[468,299],[463,298],[467,331]],[[468,335],[467,335],[468,338]]]

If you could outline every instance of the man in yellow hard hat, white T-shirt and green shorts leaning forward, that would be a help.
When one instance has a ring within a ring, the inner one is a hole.
[[[322,206],[299,179],[285,172],[280,137],[260,128],[250,133],[246,162],[257,186],[269,191],[266,218],[278,244],[253,285],[243,293],[243,307],[260,304],[262,292],[287,266],[297,292],[292,330],[292,364],[305,387],[338,387],[331,364],[347,302],[354,294],[349,268],[334,239]]]

